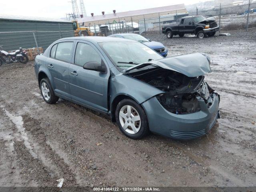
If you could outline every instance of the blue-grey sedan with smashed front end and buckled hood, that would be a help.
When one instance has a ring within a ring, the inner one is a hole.
[[[36,56],[34,69],[46,103],[63,98],[109,115],[129,138],[195,138],[219,117],[220,96],[204,81],[205,54],[163,58],[134,40],[70,37]]]

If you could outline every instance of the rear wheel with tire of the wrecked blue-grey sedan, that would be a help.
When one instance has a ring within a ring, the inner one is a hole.
[[[55,96],[48,78],[43,78],[40,81],[40,90],[42,97],[46,103],[54,104],[59,100],[59,98]]]

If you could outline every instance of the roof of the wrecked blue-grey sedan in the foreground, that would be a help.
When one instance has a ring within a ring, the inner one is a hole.
[[[124,39],[124,38],[114,38],[114,37],[102,37],[102,36],[80,36],[80,37],[67,37],[67,38],[62,38],[59,40],[87,40],[89,42],[113,42],[113,41],[133,41],[130,39]]]

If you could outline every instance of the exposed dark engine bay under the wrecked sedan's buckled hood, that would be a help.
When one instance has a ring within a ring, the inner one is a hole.
[[[204,82],[204,76],[188,77],[161,67],[137,70],[128,75],[164,91],[156,98],[166,110],[174,114],[200,111],[197,97],[203,98],[208,107],[211,105],[214,90]]]

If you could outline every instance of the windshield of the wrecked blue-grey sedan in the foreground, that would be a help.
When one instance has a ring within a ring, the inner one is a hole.
[[[99,45],[119,71],[150,60],[163,58],[157,52],[139,42],[100,42]]]

